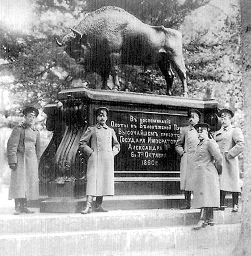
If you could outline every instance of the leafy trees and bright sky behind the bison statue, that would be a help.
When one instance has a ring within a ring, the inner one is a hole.
[[[62,88],[100,88],[100,77],[85,74],[84,67],[57,47],[55,37],[62,38],[85,12],[104,5],[181,31],[189,97],[215,98],[233,109],[234,124],[243,126],[238,0],[0,0],[0,127],[20,122],[20,110],[32,104],[41,110],[38,123],[43,129],[43,107],[56,101]],[[119,76],[121,90],[166,93],[156,66],[126,65]],[[172,93],[181,95],[177,76]]]

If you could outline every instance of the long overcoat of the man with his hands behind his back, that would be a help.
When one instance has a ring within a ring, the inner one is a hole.
[[[222,155],[218,144],[209,139],[200,142],[196,148],[194,161],[195,189],[192,207],[219,207],[220,187],[216,167],[222,165]]]

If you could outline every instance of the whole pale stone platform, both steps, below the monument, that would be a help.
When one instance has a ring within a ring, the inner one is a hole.
[[[230,208],[215,211],[214,227],[197,231],[192,230],[200,216],[197,209],[89,215],[39,213],[34,209],[33,215],[0,215],[0,255],[188,255],[196,248],[212,252],[223,247],[229,252],[240,232],[240,213],[232,213]]]

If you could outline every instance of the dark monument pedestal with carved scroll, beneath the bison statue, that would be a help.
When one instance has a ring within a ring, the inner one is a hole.
[[[107,124],[115,130],[121,146],[114,162],[115,199],[105,199],[104,205],[108,207],[116,206],[116,197],[120,197],[117,198],[120,202],[128,200],[125,199],[128,196],[132,200],[129,206],[133,208],[140,205],[142,209],[144,202],[148,208],[175,207],[164,196],[176,195],[174,200],[177,202],[182,199],[179,189],[180,157],[175,151],[175,142],[180,128],[188,125],[187,111],[196,108],[202,113],[201,122],[210,123],[211,129],[219,126],[216,113],[220,106],[215,100],[86,88],[63,90],[58,99],[62,104],[51,104],[45,108],[47,128],[56,135],[41,158],[41,180],[51,182],[58,176],[74,176],[77,180],[85,177],[87,158],[79,155],[78,142],[87,127],[96,123],[95,110],[105,106],[109,109]],[[41,210],[51,211],[44,205],[53,201],[66,205],[68,200],[68,209],[71,208],[72,212],[83,207],[85,184],[80,186],[81,189],[65,185],[60,188],[48,184],[49,198],[41,203]],[[141,199],[137,199],[139,197]],[[51,209],[54,211],[56,207]]]

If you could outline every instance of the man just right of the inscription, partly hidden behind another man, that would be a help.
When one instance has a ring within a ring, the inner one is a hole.
[[[181,209],[190,209],[191,191],[194,189],[194,153],[199,143],[194,125],[200,121],[201,113],[197,109],[187,112],[190,125],[180,129],[175,150],[181,156],[180,161],[180,189],[184,190],[185,206]]]

